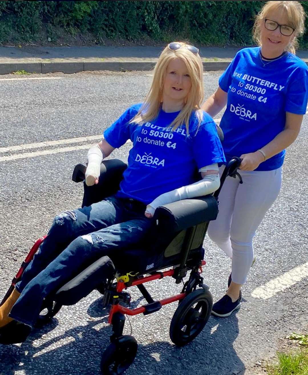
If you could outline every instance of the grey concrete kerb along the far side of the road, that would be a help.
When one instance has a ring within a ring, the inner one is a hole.
[[[118,61],[109,60],[102,62],[16,62],[16,63],[0,63],[0,75],[11,74],[13,72],[24,70],[29,73],[49,73],[49,72],[63,72],[67,74],[77,73],[82,71],[149,71],[152,70],[155,61]],[[204,71],[218,71],[225,70],[229,62],[203,62]]]

